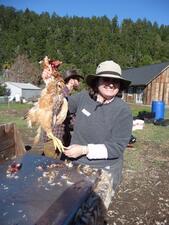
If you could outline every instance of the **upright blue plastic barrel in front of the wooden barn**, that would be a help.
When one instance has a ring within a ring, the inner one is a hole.
[[[155,119],[164,119],[165,103],[163,101],[152,101],[151,112],[155,113]]]

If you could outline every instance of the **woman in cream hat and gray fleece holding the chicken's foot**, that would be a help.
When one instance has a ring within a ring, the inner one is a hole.
[[[109,60],[100,63],[86,83],[88,91],[68,97],[69,112],[76,114],[76,120],[64,155],[74,164],[108,171],[115,190],[121,182],[123,153],[133,125],[127,103],[117,95],[130,81],[121,76],[121,67]]]

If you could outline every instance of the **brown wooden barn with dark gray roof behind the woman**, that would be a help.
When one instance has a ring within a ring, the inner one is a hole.
[[[169,62],[130,68],[123,77],[131,85],[123,93],[127,102],[151,105],[152,101],[163,101],[169,105]]]

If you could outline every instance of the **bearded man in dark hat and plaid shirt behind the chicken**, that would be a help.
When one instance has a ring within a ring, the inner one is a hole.
[[[50,74],[48,70],[44,70],[42,73],[42,78],[49,78]],[[76,70],[67,70],[63,73],[63,79],[65,81],[65,87],[63,89],[64,97],[68,97],[75,90],[78,90],[80,85],[80,80],[83,80],[83,77],[80,76]],[[53,114],[58,111],[57,105],[53,109]],[[61,125],[53,125],[52,131],[53,134],[59,138],[64,146],[68,146],[70,144],[71,139],[71,130],[73,126],[74,117],[73,115],[68,114],[66,120]],[[53,142],[48,139],[46,134],[43,135],[44,141],[44,151],[43,155],[58,158],[60,156],[59,151],[54,151]]]

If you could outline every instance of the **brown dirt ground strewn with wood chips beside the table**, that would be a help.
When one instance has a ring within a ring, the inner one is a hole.
[[[32,145],[34,134],[30,129],[22,131],[25,145]],[[41,154],[42,143],[36,149]],[[134,170],[129,169],[125,158],[123,180],[107,212],[109,225],[169,224],[169,142],[159,145],[143,141],[139,160],[142,168]]]

